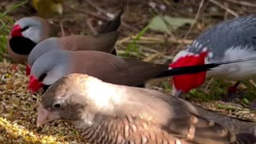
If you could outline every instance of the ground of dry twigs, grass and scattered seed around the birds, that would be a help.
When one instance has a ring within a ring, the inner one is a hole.
[[[92,34],[86,24],[86,19],[94,27],[98,23],[110,19],[106,12],[118,14],[122,2],[120,0],[89,0],[65,1],[62,18],[49,18],[56,26],[63,26],[65,35]],[[204,30],[223,20],[235,18],[245,14],[255,14],[256,2],[254,0],[171,0],[162,1],[124,1],[125,12],[122,16],[122,26],[116,49],[121,56],[132,56],[148,62],[171,62],[178,50],[197,38]],[[155,7],[152,7],[154,6]],[[150,19],[158,14],[171,17],[192,18],[194,24],[181,26],[176,30],[155,32],[147,30],[134,42],[133,38],[141,34]],[[40,94],[30,94],[26,90],[27,78],[24,66],[19,65],[18,70],[12,70],[6,54],[7,36],[10,28],[18,18],[37,15],[30,4],[22,0],[8,0],[0,2],[0,142],[1,143],[67,143],[80,142],[79,134],[66,122],[52,122],[47,126],[38,128],[36,123],[36,107],[40,101]],[[62,32],[59,32],[59,36]],[[135,43],[135,44],[134,44]],[[134,44],[130,49],[131,44]],[[206,109],[214,110],[234,118],[255,121],[253,110],[249,110],[250,102],[256,98],[256,84],[254,80],[242,82],[239,86],[241,98],[235,102],[224,103],[219,100],[226,89],[234,82],[223,79],[209,79],[204,86],[192,90],[186,99]],[[164,78],[150,82],[147,88],[161,90],[170,94],[169,79]]]

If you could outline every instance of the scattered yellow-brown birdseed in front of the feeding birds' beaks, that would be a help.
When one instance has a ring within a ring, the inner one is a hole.
[[[36,126],[42,93],[26,89],[25,66],[0,62],[0,143],[86,143],[68,122]]]

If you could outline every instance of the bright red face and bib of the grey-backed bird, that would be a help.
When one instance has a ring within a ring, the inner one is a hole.
[[[176,62],[170,64],[170,67],[179,67],[179,66],[196,66],[205,64],[205,58],[208,52],[202,52],[198,56],[196,55],[186,55],[185,57],[178,58]],[[177,90],[182,90],[187,93],[190,90],[201,86],[206,79],[206,72],[200,72],[196,74],[182,74],[174,76],[173,83]]]

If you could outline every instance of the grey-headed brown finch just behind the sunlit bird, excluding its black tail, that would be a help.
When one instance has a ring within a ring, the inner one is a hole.
[[[35,92],[72,73],[90,74],[105,82],[138,86],[168,70],[168,67],[136,58],[119,58],[102,51],[52,50],[34,62],[28,88]]]

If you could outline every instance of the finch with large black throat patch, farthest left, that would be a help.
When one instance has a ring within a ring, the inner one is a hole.
[[[20,18],[10,32],[6,50],[12,61],[25,64],[34,46],[57,34],[58,29],[44,18]]]

